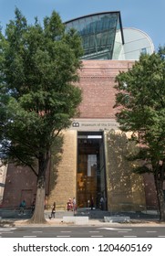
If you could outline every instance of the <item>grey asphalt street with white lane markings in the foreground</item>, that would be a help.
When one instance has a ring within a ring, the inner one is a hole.
[[[164,227],[0,228],[0,238],[165,238]]]

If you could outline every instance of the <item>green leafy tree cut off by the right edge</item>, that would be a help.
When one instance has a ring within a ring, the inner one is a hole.
[[[141,159],[137,173],[152,173],[160,209],[160,220],[165,220],[165,48],[151,55],[141,55],[127,72],[116,78],[117,121],[123,132],[132,132],[132,140],[139,146],[139,154],[130,159]]]

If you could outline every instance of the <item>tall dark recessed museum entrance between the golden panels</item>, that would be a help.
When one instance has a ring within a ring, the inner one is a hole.
[[[104,140],[102,132],[77,133],[77,207],[99,208],[100,198],[105,198],[107,189],[105,177]]]

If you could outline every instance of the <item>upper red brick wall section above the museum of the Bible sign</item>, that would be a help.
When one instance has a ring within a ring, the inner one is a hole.
[[[133,61],[85,60],[78,86],[83,92],[79,106],[81,118],[114,118],[116,109],[114,89],[119,70],[126,71]]]

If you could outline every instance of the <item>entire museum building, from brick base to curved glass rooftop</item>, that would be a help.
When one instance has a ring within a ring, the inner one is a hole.
[[[77,86],[82,90],[79,117],[63,132],[61,162],[50,161],[46,172],[46,206],[65,208],[69,197],[78,207],[91,200],[109,211],[141,210],[157,206],[153,176],[132,173],[126,160],[136,148],[128,143],[129,133],[121,133],[116,123],[115,78],[127,71],[141,52],[154,50],[150,37],[136,28],[122,28],[119,12],[82,16],[66,23],[77,29],[84,48],[83,68]],[[132,60],[129,60],[132,59]],[[52,155],[53,159],[53,155]],[[9,165],[3,189],[3,206],[18,206],[36,197],[36,176],[28,168]]]

